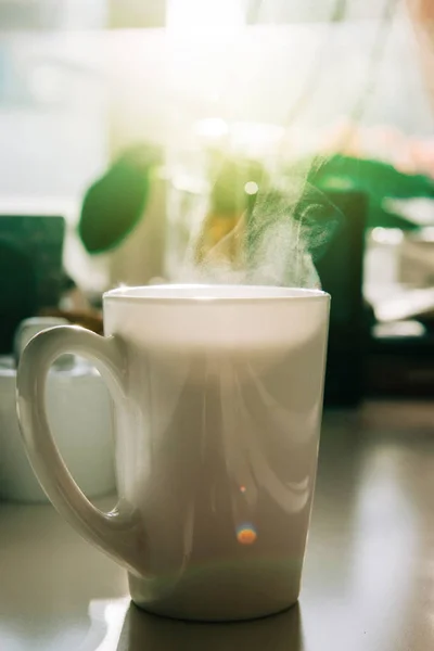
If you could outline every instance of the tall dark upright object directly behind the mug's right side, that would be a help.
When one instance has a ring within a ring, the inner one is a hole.
[[[326,372],[326,406],[356,406],[363,396],[363,358],[369,309],[362,298],[365,222],[368,197],[361,192],[327,192],[344,215],[317,261],[322,289],[332,296]]]

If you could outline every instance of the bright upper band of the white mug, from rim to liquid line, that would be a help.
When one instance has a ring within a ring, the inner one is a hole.
[[[282,350],[326,333],[329,298],[257,285],[119,288],[104,294],[104,331],[154,350]]]

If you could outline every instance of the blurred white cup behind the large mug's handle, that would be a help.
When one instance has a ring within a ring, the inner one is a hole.
[[[14,356],[20,359],[39,332],[66,319],[35,317],[17,329]],[[13,357],[0,358],[0,500],[48,501],[25,454],[15,406]],[[115,490],[113,419],[108,391],[93,367],[80,357],[62,355],[47,378],[47,409],[55,442],[74,478],[89,498]]]

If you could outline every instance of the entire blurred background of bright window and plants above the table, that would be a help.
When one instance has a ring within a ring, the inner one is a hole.
[[[430,0],[0,0],[0,353],[233,271],[283,202],[319,278],[264,280],[332,294],[327,405],[433,396],[433,79]]]

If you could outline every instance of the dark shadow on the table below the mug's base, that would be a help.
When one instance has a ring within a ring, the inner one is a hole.
[[[130,604],[117,651],[303,651],[298,604],[279,615],[228,624],[150,615]]]

